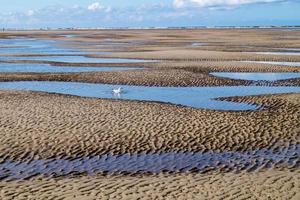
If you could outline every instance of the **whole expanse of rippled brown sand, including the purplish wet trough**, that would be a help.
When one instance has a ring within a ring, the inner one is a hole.
[[[293,38],[285,37],[287,33]],[[29,36],[71,42],[63,45],[85,49],[92,57],[159,62],[88,65],[145,68],[122,72],[0,73],[0,81],[299,86],[299,78],[252,82],[209,75],[300,72],[295,66],[240,62],[299,62],[297,55],[251,53],[297,49],[299,35],[300,31],[281,29],[1,32],[0,38]],[[93,53],[101,51],[112,54]],[[219,100],[262,107],[257,111],[217,111],[2,90],[0,199],[299,199],[300,94]],[[193,156],[201,165],[184,164],[188,159],[197,161]],[[140,157],[157,166],[141,162]],[[177,163],[178,159],[181,162]],[[81,163],[83,169],[78,170],[74,163]],[[111,168],[116,171],[112,173]]]

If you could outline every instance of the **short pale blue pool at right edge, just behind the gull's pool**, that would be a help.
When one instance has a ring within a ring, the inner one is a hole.
[[[291,78],[299,78],[300,73],[240,73],[240,72],[214,72],[213,76],[241,79],[250,81],[278,81]]]

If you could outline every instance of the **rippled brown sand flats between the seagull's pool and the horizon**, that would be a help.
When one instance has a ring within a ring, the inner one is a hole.
[[[62,63],[50,61],[26,61],[63,66],[125,66],[145,67],[146,71],[80,73],[80,74],[0,74],[1,81],[51,80],[90,83],[129,84],[146,86],[216,86],[249,85],[237,81],[210,76],[210,72],[300,72],[300,67],[239,61],[299,62],[297,55],[259,55],[249,48],[275,51],[282,48],[297,49],[300,39],[290,40],[282,30],[78,30],[78,31],[19,31],[0,33],[0,37],[24,36],[37,39],[54,39],[64,42],[61,46],[83,48],[92,57],[137,58],[158,60],[157,63]],[[299,35],[299,31],[290,31]],[[71,35],[72,37],[66,37]],[[75,37],[76,35],[76,37]],[[278,38],[283,39],[278,40]],[[67,43],[66,43],[67,42]],[[202,42],[204,45],[193,46]],[[209,47],[209,49],[207,49]],[[234,47],[235,52],[230,50]],[[226,51],[229,49],[229,51]],[[111,52],[93,54],[93,51]],[[243,52],[244,51],[244,52]],[[30,52],[24,52],[24,55]],[[31,55],[34,56],[34,55]],[[36,56],[39,56],[38,54]],[[7,62],[7,61],[4,61]],[[22,63],[13,60],[10,62]],[[278,81],[274,85],[299,85],[299,79]]]

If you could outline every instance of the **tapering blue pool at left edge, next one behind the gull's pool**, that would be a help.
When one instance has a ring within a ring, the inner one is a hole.
[[[75,72],[96,72],[96,71],[121,71],[141,68],[130,67],[64,67],[48,64],[32,63],[0,63],[0,73],[75,73]]]

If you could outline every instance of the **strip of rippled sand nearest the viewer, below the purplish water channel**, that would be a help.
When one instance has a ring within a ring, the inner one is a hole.
[[[0,182],[8,199],[299,199],[299,171],[71,176]],[[17,191],[17,192],[16,192]]]

